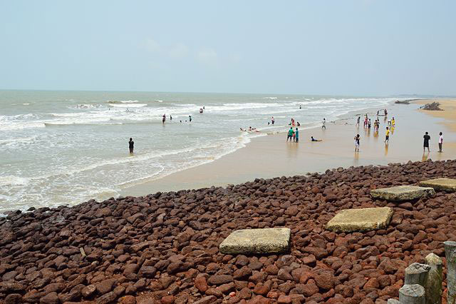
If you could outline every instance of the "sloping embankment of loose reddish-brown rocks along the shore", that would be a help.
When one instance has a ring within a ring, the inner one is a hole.
[[[396,204],[369,192],[441,176],[455,178],[456,161],[339,168],[10,213],[0,220],[0,299],[386,303],[398,297],[410,263],[431,252],[444,258],[442,242],[456,240],[456,194]],[[388,228],[323,228],[337,211],[373,206],[393,207]],[[289,254],[219,253],[232,230],[265,227],[291,228]]]

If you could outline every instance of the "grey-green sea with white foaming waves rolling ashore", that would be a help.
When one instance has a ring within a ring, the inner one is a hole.
[[[311,128],[323,118],[333,121],[351,111],[386,107],[393,100],[0,91],[0,213],[115,197],[137,183],[214,161],[256,136],[286,131],[291,118],[301,128]],[[199,113],[203,106],[204,113]],[[268,125],[271,116],[274,126]],[[239,130],[250,126],[259,132]],[[128,152],[130,137],[135,141],[133,155]]]

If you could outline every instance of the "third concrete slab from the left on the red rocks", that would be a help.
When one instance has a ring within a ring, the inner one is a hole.
[[[418,186],[395,186],[371,190],[373,198],[383,198],[386,201],[413,201],[422,196],[434,195],[433,188]]]

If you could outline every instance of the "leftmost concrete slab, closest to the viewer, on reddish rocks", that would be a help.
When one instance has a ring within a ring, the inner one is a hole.
[[[224,254],[284,253],[290,248],[289,228],[235,230],[219,246]]]

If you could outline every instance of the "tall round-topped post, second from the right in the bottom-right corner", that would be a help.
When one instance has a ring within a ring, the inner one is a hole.
[[[425,284],[426,304],[442,304],[442,259],[434,253],[426,255],[426,264],[430,265]]]

